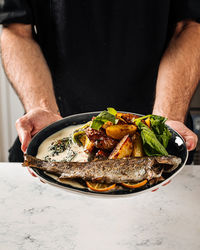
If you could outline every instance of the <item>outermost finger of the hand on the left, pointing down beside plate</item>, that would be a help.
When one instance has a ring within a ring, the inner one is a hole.
[[[27,119],[22,117],[16,121],[16,129],[19,135],[19,140],[21,142],[21,150],[25,153],[31,140],[31,123],[27,121]]]

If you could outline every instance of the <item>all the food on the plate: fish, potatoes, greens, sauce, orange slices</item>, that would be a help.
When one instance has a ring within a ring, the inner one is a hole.
[[[166,119],[108,108],[85,124],[70,126],[45,140],[24,166],[81,181],[96,192],[145,188],[164,180],[181,159],[169,155]]]

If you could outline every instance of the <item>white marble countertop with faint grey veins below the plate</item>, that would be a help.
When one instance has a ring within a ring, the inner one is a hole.
[[[1,250],[200,249],[200,166],[131,198],[94,198],[0,163]]]

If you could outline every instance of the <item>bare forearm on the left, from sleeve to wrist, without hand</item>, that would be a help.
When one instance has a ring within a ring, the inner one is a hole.
[[[1,50],[5,72],[26,112],[42,107],[57,113],[51,74],[30,27],[23,34],[15,27],[4,28]]]

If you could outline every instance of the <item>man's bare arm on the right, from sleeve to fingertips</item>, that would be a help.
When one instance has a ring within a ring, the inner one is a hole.
[[[153,113],[168,118],[168,124],[196,147],[197,136],[184,126],[191,98],[200,80],[200,24],[177,24],[158,71]]]

